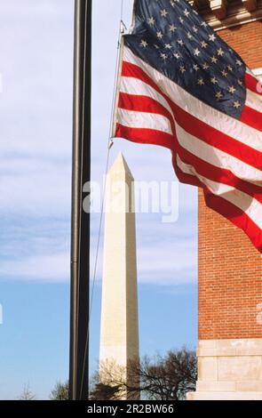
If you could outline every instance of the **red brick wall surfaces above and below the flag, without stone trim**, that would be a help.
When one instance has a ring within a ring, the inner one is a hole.
[[[219,32],[250,68],[262,68],[262,21]],[[199,191],[200,340],[262,338],[262,259],[242,230],[205,206]]]

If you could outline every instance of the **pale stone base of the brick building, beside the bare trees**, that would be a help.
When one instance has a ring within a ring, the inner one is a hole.
[[[200,340],[198,381],[189,400],[262,398],[262,339]]]

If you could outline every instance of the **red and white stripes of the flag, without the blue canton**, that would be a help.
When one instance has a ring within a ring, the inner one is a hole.
[[[262,95],[246,74],[241,120],[203,103],[123,46],[113,136],[171,149],[179,181],[202,187],[207,205],[262,252]]]

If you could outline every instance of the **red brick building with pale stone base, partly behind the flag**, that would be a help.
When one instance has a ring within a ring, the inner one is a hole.
[[[262,1],[190,2],[262,76]],[[262,259],[199,192],[198,382],[190,399],[262,399]]]

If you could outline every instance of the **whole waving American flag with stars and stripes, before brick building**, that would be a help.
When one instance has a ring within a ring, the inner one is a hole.
[[[262,87],[187,0],[135,2],[112,137],[171,149],[179,181],[262,253]]]

